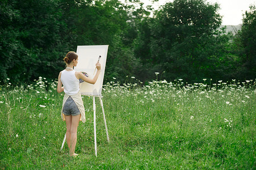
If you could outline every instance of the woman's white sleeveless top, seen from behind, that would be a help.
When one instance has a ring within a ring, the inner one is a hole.
[[[76,71],[61,71],[60,80],[67,95],[76,95],[79,92],[79,79],[76,78]]]

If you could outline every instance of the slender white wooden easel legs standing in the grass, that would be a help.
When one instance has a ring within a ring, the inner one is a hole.
[[[93,96],[93,124],[94,124],[94,150],[95,150],[95,155],[97,156],[97,138],[96,138],[96,104],[95,104],[95,97]],[[103,114],[103,119],[104,119],[104,124],[105,124],[105,129],[106,129],[106,136],[107,136],[107,140],[109,142],[109,134],[108,134],[108,128],[106,126],[106,118],[105,118],[105,112],[104,112],[104,107],[103,107],[103,103],[102,103],[102,97],[103,96],[97,96],[100,99],[100,103],[101,103],[101,109],[102,109],[102,114]],[[64,143],[66,140],[66,134],[65,137],[63,139],[62,145],[60,150],[62,150]]]

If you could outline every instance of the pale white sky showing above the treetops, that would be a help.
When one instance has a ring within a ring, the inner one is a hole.
[[[167,2],[173,2],[173,0],[159,0],[150,4],[150,1],[141,1],[145,6],[153,5],[154,8],[158,8],[160,5],[164,5]],[[242,14],[249,10],[249,6],[256,5],[256,0],[207,0],[210,3],[220,4],[220,15],[222,15],[222,25],[238,25],[242,24]]]

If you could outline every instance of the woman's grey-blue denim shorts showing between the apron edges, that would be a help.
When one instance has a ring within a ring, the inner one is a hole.
[[[70,96],[68,97],[66,103],[64,104],[62,112],[63,112],[63,114],[65,114],[67,116],[69,116],[69,115],[77,116],[80,114],[80,111],[77,108],[75,101]]]

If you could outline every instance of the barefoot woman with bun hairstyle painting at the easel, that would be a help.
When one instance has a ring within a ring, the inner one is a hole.
[[[77,156],[77,154],[75,154],[77,126],[79,125],[79,121],[85,122],[84,104],[79,92],[79,79],[95,84],[98,75],[100,74],[101,65],[100,63],[96,63],[97,73],[93,79],[90,79],[84,74],[73,70],[73,67],[76,66],[78,62],[78,56],[75,52],[68,52],[64,61],[67,64],[67,67],[65,70],[60,71],[57,92],[65,92],[63,107],[61,109],[61,118],[66,121],[67,125],[66,138],[69,155]]]

